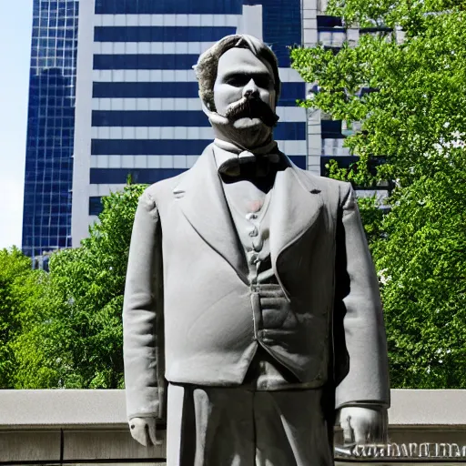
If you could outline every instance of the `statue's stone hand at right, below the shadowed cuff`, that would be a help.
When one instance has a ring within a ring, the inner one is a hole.
[[[345,444],[387,441],[387,409],[380,406],[347,406],[339,410],[339,425]]]

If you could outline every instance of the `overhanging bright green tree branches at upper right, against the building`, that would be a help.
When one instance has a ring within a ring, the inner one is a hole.
[[[361,3],[382,2],[355,1]],[[404,11],[401,1],[389,3],[400,4],[401,11],[394,10],[399,15]],[[352,1],[345,5],[356,8]],[[441,168],[438,145],[454,141],[466,127],[466,11],[421,17],[425,31],[408,30],[403,44],[390,33],[361,35],[358,46],[343,46],[338,54],[323,47],[291,51],[293,67],[320,89],[301,105],[362,121],[362,130],[346,140],[360,156],[359,171],[368,171],[370,157],[386,157],[376,177],[396,178],[400,186]],[[378,91],[360,98],[362,86]]]

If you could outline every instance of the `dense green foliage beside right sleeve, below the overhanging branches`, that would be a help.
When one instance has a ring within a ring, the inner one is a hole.
[[[466,387],[465,179],[466,164],[413,182],[374,245],[395,387]]]

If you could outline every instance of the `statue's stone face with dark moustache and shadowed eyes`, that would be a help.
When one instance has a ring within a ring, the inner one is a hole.
[[[267,123],[267,117],[275,112],[275,97],[275,81],[268,62],[247,48],[231,48],[220,56],[214,102],[217,113],[228,117],[234,127]]]

